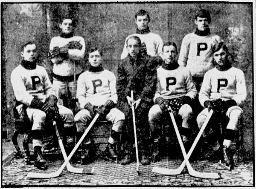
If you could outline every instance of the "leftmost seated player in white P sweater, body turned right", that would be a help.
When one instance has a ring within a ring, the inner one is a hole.
[[[32,143],[34,147],[35,166],[47,167],[42,157],[42,138],[46,117],[53,118],[60,114],[64,130],[74,124],[73,112],[64,106],[57,106],[57,94],[52,88],[46,70],[37,66],[37,49],[34,42],[22,46],[23,60],[11,74],[11,83],[16,98],[16,109],[20,117],[28,117],[32,124]],[[26,115],[24,115],[24,112]],[[22,115],[23,114],[23,115]]]

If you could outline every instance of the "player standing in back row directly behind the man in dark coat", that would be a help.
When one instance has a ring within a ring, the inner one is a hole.
[[[150,17],[147,11],[140,10],[135,14],[135,23],[137,25],[137,30],[134,36],[138,36],[142,43],[145,43],[147,54],[150,56],[161,56],[163,41],[158,34],[151,33],[148,24],[150,23]],[[132,35],[129,35],[125,39],[124,49],[121,55],[121,60],[127,57],[128,50],[126,48],[127,40]]]

